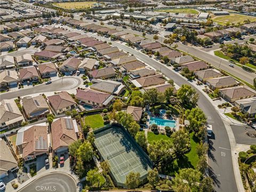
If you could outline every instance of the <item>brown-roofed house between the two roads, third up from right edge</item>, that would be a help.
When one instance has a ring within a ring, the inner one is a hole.
[[[238,85],[238,82],[233,77],[223,76],[207,79],[206,85],[208,85],[212,90],[215,90],[236,86]]]

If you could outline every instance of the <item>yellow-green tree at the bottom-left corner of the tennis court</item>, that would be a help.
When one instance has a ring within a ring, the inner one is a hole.
[[[88,181],[93,187],[101,187],[106,182],[105,178],[99,173],[97,168],[87,172],[86,181]]]

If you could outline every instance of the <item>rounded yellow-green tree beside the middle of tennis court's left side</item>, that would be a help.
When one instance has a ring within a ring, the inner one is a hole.
[[[77,156],[81,157],[83,162],[89,162],[92,160],[93,149],[89,141],[84,141],[83,144],[77,149]]]

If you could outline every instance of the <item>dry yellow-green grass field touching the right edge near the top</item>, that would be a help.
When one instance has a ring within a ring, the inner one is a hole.
[[[247,20],[247,19],[249,19],[251,22],[256,21],[255,17],[242,15],[242,14],[235,14],[235,13],[230,13],[230,15],[220,15],[220,16],[212,15],[212,20],[214,22],[217,22],[219,25],[226,25],[227,22],[243,23],[244,20]]]

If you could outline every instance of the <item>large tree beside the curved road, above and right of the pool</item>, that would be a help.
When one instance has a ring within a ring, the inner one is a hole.
[[[183,84],[177,92],[177,97],[182,103],[196,105],[199,95],[190,85]]]

